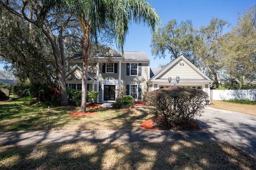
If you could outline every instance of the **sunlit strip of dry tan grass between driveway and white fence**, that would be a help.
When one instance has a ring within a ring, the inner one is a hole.
[[[256,105],[239,104],[239,103],[222,101],[222,100],[213,100],[212,104],[210,104],[209,106],[216,109],[236,111],[236,112],[256,116]]]

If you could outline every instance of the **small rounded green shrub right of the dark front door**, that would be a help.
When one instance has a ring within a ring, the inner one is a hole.
[[[124,95],[122,98],[116,99],[112,107],[116,109],[132,108],[134,106],[133,97]]]

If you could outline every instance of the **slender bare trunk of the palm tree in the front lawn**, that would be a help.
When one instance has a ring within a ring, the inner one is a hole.
[[[81,113],[86,113],[86,90],[88,77],[88,61],[90,57],[91,43],[89,35],[84,35],[82,39],[82,54],[83,54],[83,76],[82,76],[82,100]]]

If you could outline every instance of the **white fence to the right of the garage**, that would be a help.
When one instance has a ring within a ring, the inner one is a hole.
[[[256,100],[256,89],[250,90],[211,90],[212,100]]]

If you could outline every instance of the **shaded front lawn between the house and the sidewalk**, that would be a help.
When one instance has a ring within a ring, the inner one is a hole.
[[[47,107],[23,106],[22,100],[0,104],[0,131],[48,130]],[[69,113],[80,107],[51,107],[49,130],[114,130],[138,129],[140,123],[155,115],[147,108],[90,109],[97,114],[88,117],[72,117]]]

